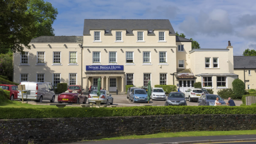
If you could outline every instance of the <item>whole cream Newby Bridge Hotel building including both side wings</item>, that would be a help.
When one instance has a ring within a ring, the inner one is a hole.
[[[192,41],[175,34],[169,20],[84,20],[83,36],[41,36],[25,54],[14,54],[14,82],[44,81],[97,85],[125,92],[125,85],[176,85],[195,82],[213,89],[232,88],[233,46],[192,49]],[[236,69],[235,69],[236,70]],[[253,70],[253,69],[252,69]],[[241,78],[240,78],[241,79]]]

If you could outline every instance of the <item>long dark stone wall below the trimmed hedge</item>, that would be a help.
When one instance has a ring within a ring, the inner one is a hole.
[[[256,115],[150,115],[0,120],[0,143],[60,143],[120,135],[181,131],[256,130]]]

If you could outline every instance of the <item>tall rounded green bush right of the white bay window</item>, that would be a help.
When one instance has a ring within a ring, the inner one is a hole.
[[[234,98],[241,99],[244,95],[244,82],[240,79],[235,79],[232,82]]]

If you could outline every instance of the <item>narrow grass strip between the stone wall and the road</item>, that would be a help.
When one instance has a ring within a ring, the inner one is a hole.
[[[115,138],[102,138],[99,140],[139,139],[139,138],[172,138],[189,136],[214,136],[214,135],[256,135],[256,130],[233,130],[233,131],[195,131],[195,132],[163,132],[151,135],[128,135]]]

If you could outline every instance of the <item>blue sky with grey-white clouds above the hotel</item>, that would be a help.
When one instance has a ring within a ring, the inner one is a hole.
[[[55,35],[83,35],[84,19],[168,19],[201,49],[256,50],[255,0],[45,0],[58,9]]]

